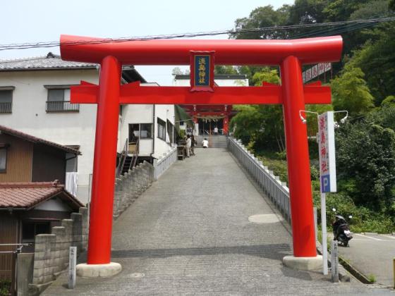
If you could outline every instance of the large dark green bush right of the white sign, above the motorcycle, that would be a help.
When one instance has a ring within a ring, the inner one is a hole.
[[[385,210],[394,199],[395,132],[359,122],[343,125],[336,133],[339,190],[370,209]]]

